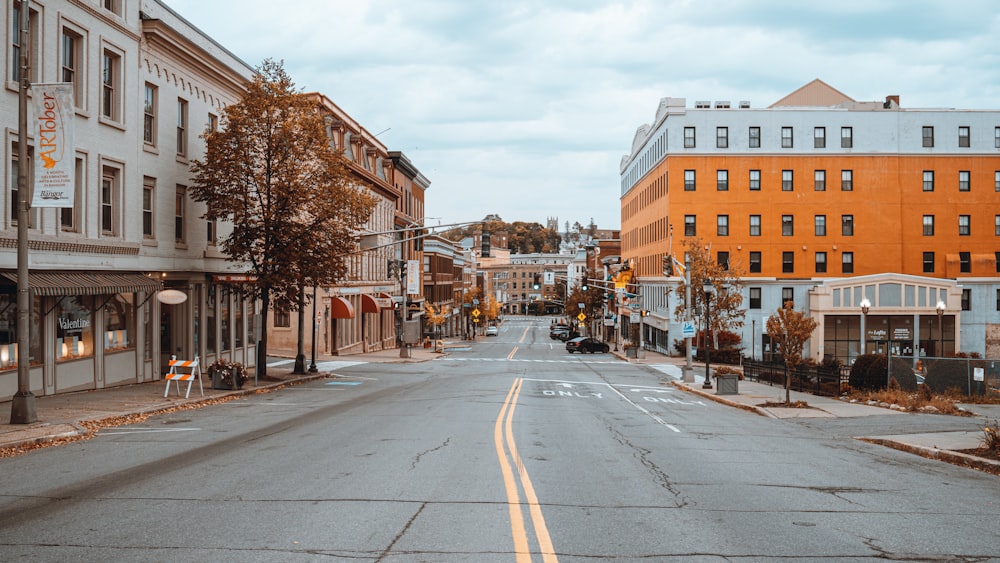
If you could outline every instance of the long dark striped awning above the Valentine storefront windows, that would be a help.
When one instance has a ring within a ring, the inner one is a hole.
[[[17,285],[16,272],[3,272],[0,276]],[[142,274],[28,272],[28,290],[41,297],[153,293],[160,289],[159,281]]]

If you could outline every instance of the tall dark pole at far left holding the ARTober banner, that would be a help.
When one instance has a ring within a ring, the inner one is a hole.
[[[22,0],[20,22],[21,87],[17,97],[17,393],[11,400],[10,423],[31,424],[38,420],[31,393],[31,296],[28,287],[28,88],[31,82],[31,43],[28,38],[30,9]]]

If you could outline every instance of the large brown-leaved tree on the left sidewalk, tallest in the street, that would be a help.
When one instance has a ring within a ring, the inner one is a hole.
[[[267,59],[240,101],[223,110],[220,129],[205,132],[205,158],[192,165],[191,197],[207,204],[205,219],[233,225],[219,246],[247,266],[254,281],[239,291],[260,300],[262,326],[272,303],[297,310],[305,287],[344,278],[344,258],[374,207],[352,185],[318,109],[280,62]],[[261,330],[258,376],[266,357]]]

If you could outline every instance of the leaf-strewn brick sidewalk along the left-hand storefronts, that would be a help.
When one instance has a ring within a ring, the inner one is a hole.
[[[451,343],[446,342],[447,346]],[[409,363],[426,362],[444,354],[432,349],[413,347],[410,357],[400,357],[399,349],[380,350],[368,354],[353,356],[317,355],[317,368],[323,368],[328,362],[368,362],[368,363]],[[269,350],[271,358],[293,359],[295,352],[290,350]],[[312,358],[306,356],[308,369]],[[198,403],[211,404],[227,397],[266,393],[286,385],[294,385],[304,381],[319,379],[329,375],[329,371],[319,369],[317,373],[292,373],[292,362],[281,365],[269,364],[266,379],[255,381],[251,376],[242,389],[230,391],[211,388],[211,379],[202,374],[204,395],[195,381],[191,385],[191,393],[185,398],[187,383],[181,382],[180,393],[177,384],[170,383],[170,392],[164,397],[167,382],[163,380],[132,385],[121,385],[105,389],[93,389],[74,393],[62,393],[45,397],[35,397],[35,412],[38,421],[31,424],[11,424],[11,401],[0,402],[0,457],[17,454],[41,444],[58,443],[77,439],[91,433],[88,423],[113,419],[140,417],[171,409],[184,408]],[[251,374],[253,371],[251,370]]]

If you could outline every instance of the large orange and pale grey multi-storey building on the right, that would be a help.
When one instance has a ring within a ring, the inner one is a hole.
[[[850,362],[862,342],[1000,357],[1000,110],[857,102],[819,80],[767,108],[685,105],[661,100],[621,166],[622,254],[652,347],[680,333],[663,257],[699,237],[746,272],[748,356],[793,300],[819,322],[817,360]]]

